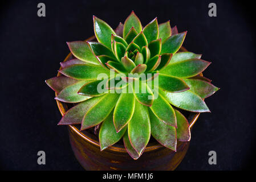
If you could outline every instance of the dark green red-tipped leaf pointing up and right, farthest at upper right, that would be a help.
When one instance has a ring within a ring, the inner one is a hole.
[[[162,51],[161,53],[176,53],[178,49],[182,46],[186,36],[186,32],[182,32],[180,34],[169,36],[162,43]]]

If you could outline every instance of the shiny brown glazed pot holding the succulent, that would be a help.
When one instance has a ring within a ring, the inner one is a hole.
[[[94,40],[95,37],[87,39]],[[181,48],[181,51],[186,51]],[[72,59],[71,53],[64,61]],[[57,76],[61,74],[58,73]],[[68,110],[67,104],[56,101],[62,115]],[[200,113],[189,113],[189,127],[194,125]],[[122,144],[114,144],[100,151],[99,139],[87,130],[80,131],[76,125],[68,125],[72,150],[79,163],[86,170],[173,170],[181,163],[189,142],[177,142],[174,152],[157,142],[150,142],[139,159],[133,160]]]

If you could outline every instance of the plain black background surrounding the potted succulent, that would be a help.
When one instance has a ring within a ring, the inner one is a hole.
[[[37,5],[46,5],[46,17]],[[208,5],[217,5],[217,17]],[[157,16],[188,30],[184,46],[212,61],[204,75],[220,87],[206,99],[188,153],[177,170],[251,169],[255,159],[255,27],[253,5],[243,1],[7,1],[1,5],[0,169],[82,170],[72,153],[54,92],[54,77],[68,41],[94,34],[92,15],[115,28],[134,10],[145,25]],[[36,162],[46,152],[46,165]],[[217,165],[208,152],[217,152]]]

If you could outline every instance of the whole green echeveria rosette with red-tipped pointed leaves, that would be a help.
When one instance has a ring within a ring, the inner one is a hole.
[[[200,76],[210,62],[192,52],[178,52],[186,32],[178,33],[169,21],[159,24],[155,18],[143,27],[132,12],[114,31],[103,20],[96,16],[93,19],[97,42],[68,42],[75,59],[61,63],[62,76],[46,80],[58,93],[56,100],[76,104],[63,115],[59,125],[81,124],[81,130],[85,130],[101,123],[101,150],[123,138],[133,159],[140,157],[151,135],[176,151],[177,140],[190,140],[188,120],[176,108],[199,113],[210,111],[204,98],[218,88]],[[109,69],[115,73],[111,74]],[[100,73],[106,76],[103,77],[106,85],[117,73],[123,73],[119,78],[124,86],[106,86],[99,93]],[[129,77],[128,73],[155,75],[147,77],[145,82]],[[159,96],[154,98],[152,85],[156,77]],[[111,92],[112,89],[134,91],[131,80],[144,85],[146,92]]]

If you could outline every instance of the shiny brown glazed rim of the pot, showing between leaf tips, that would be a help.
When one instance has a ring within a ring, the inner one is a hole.
[[[84,40],[84,41],[91,41],[95,39],[95,36],[91,36],[90,38]],[[181,49],[183,51],[187,51],[184,47],[181,47]],[[66,58],[64,59],[64,61],[67,61],[67,59],[71,56],[71,52],[68,53],[68,55],[66,56]],[[63,61],[63,62],[64,62]],[[62,69],[62,67],[59,68],[59,70]],[[62,74],[60,72],[58,72],[57,77],[61,76]],[[200,73],[200,75],[202,76],[202,73]],[[57,93],[55,92],[55,96],[57,96]],[[62,116],[66,113],[66,109],[64,107],[64,105],[66,105],[64,102],[60,102],[58,100],[56,100],[56,103],[58,105],[60,114],[62,114]],[[190,112],[193,113],[193,112]],[[191,122],[189,123],[189,129],[192,129],[192,126],[194,125],[194,123],[196,123],[198,117],[199,117],[200,113],[194,113],[194,116],[191,120]],[[74,125],[68,125],[69,129],[73,132],[75,132],[76,134],[78,134],[80,137],[82,137],[83,139],[87,140],[87,142],[90,142],[91,144],[96,145],[97,147],[100,148],[100,143],[99,141],[92,139],[90,137],[90,134],[88,133],[87,130],[84,131],[80,131],[77,127],[75,127]],[[144,152],[148,152],[148,151],[153,151],[153,150],[157,150],[159,148],[165,148],[164,146],[162,146],[160,143],[149,143],[149,146],[147,146],[144,150]],[[117,144],[113,144],[112,146],[109,146],[108,148],[106,148],[106,150],[111,150],[111,151],[117,151],[117,152],[125,152],[127,153],[127,151],[125,150],[125,147],[123,145],[118,145]]]

